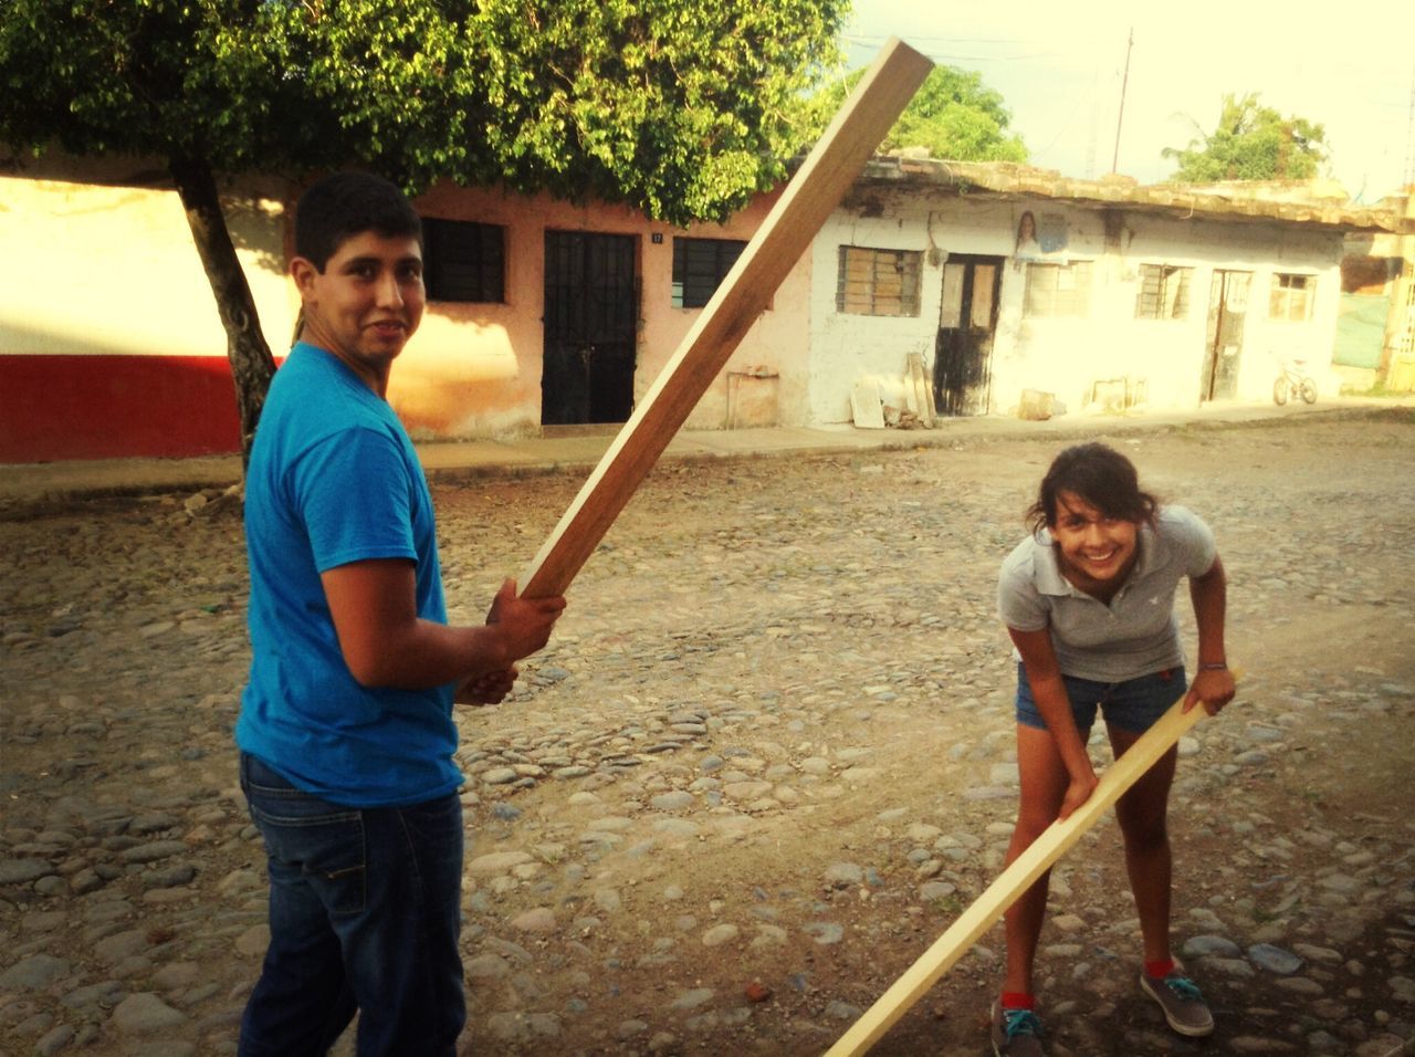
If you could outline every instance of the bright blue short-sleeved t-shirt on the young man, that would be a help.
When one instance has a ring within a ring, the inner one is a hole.
[[[441,797],[453,763],[453,685],[359,686],[320,573],[416,563],[417,616],[447,623],[432,495],[388,402],[334,355],[297,344],[276,372],[246,471],[250,681],[236,744],[297,788],[351,807]]]

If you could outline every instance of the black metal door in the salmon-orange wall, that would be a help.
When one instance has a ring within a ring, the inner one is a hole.
[[[541,423],[627,422],[634,410],[634,238],[545,233]]]

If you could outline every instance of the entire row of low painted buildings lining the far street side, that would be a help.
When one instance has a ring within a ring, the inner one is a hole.
[[[299,190],[224,185],[277,358]],[[1289,358],[1334,393],[1343,236],[1415,221],[1257,191],[876,158],[686,424],[1266,402]],[[432,188],[415,202],[429,308],[393,409],[419,440],[624,422],[780,194],[678,229]],[[47,158],[0,177],[0,241],[24,246],[0,262],[0,463],[238,450],[225,335],[161,167]]]

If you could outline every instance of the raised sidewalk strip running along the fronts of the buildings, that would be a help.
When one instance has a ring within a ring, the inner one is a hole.
[[[682,430],[669,443],[664,461],[780,456],[792,451],[862,451],[948,447],[965,437],[1087,437],[1146,429],[1204,427],[1303,416],[1360,415],[1382,408],[1415,408],[1415,393],[1402,398],[1343,396],[1316,405],[1278,408],[1215,402],[1190,410],[1140,410],[1125,415],[1065,415],[1047,422],[1003,416],[938,419],[934,429],[856,429],[852,424],[780,426],[739,430]],[[591,467],[617,434],[614,426],[546,427],[541,436],[495,440],[429,441],[417,453],[429,478],[480,474],[553,473]],[[92,461],[0,466],[0,505],[82,495],[120,495],[200,488],[225,488],[241,481],[241,458],[233,454],[194,458],[105,458]]]

